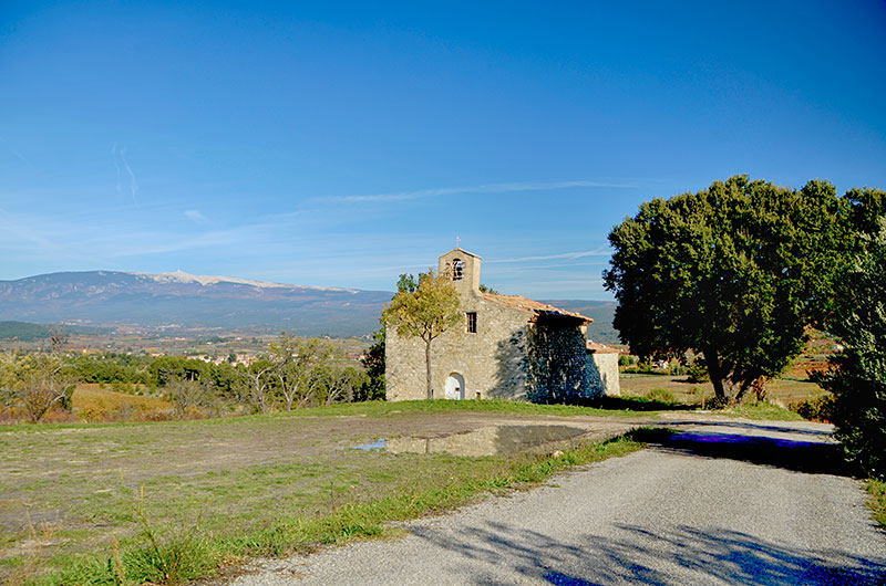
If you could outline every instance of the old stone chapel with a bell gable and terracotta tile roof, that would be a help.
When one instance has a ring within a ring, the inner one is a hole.
[[[587,342],[589,317],[484,293],[480,263],[459,247],[439,259],[464,318],[431,344],[434,398],[579,402],[619,394],[618,354]],[[426,398],[424,342],[389,328],[384,359],[388,400]]]

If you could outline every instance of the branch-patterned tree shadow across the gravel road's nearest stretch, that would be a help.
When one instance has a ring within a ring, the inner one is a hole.
[[[571,544],[505,523],[451,531],[418,527],[415,535],[451,552],[450,562],[480,562],[474,584],[499,583],[501,568],[554,585],[739,584],[874,586],[886,559],[826,548],[799,550],[745,533],[678,525],[664,531],[616,524],[608,535],[577,535]]]

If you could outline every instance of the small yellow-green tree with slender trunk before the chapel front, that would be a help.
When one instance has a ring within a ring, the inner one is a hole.
[[[424,363],[427,398],[434,398],[431,386],[431,343],[462,318],[459,293],[444,275],[429,269],[419,273],[401,274],[396,294],[385,305],[381,321],[393,327],[399,336],[419,337],[424,342]]]

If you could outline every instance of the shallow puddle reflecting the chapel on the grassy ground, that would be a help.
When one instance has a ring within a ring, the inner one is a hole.
[[[454,456],[508,456],[585,433],[571,426],[490,426],[442,438],[388,438],[384,448],[392,453],[447,452]]]

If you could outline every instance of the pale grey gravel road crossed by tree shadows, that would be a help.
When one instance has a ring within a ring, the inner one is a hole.
[[[667,425],[682,432],[668,446],[409,523],[402,540],[257,562],[230,585],[886,584],[861,483],[815,470],[826,426]]]

